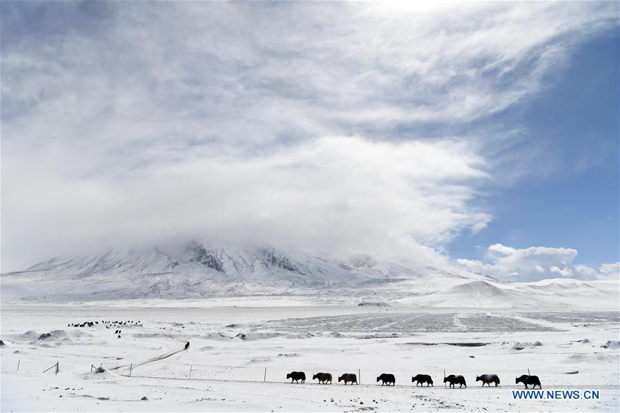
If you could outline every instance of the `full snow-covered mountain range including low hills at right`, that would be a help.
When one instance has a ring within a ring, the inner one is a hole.
[[[449,264],[438,268],[368,255],[342,260],[294,247],[199,241],[170,250],[108,248],[56,257],[3,274],[0,283],[4,303],[310,296],[323,302],[521,307],[565,306],[579,296],[615,299],[608,285],[577,280],[506,284]]]

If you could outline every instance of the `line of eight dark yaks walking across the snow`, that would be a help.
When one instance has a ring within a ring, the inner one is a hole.
[[[306,373],[290,372],[289,374],[286,375],[286,379],[290,379],[291,383],[293,382],[294,383],[306,383]],[[319,380],[319,383],[321,384],[328,384],[328,383],[332,384],[332,374],[331,373],[317,373],[317,374],[314,374],[314,376],[312,376],[312,380]],[[353,373],[343,374],[342,376],[339,376],[338,378],[338,383],[340,383],[341,381],[343,381],[345,385],[348,383],[358,384],[357,374],[353,374]],[[381,376],[378,376],[377,383],[379,383],[379,381],[381,381],[381,385],[395,385],[396,384],[396,378],[394,377],[394,374],[390,374],[390,373],[383,373],[381,374]],[[482,374],[481,376],[476,377],[476,381],[481,381],[483,386],[486,384],[490,387],[491,386],[490,383],[494,383],[496,387],[497,385],[499,385],[499,377],[497,376],[497,374]],[[426,387],[433,385],[432,378],[428,374],[417,374],[416,376],[412,376],[411,382],[416,383],[416,386],[418,385],[423,386],[424,383],[426,383]],[[454,385],[457,385],[457,384],[459,385],[459,388],[463,386],[467,387],[465,377],[456,376],[454,374],[450,374],[450,376],[444,377],[443,383],[450,383],[450,387],[454,387]],[[528,385],[532,385],[532,388],[535,388],[536,386],[541,388],[541,383],[540,383],[538,376],[528,376],[528,374],[523,374],[523,376],[517,377],[517,379],[515,379],[515,383],[516,384],[523,383],[524,385],[526,385],[526,389],[529,388]]]

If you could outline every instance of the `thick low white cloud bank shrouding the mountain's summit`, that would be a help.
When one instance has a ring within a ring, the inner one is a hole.
[[[3,188],[10,252],[204,236],[332,253],[388,254],[406,244],[415,247],[407,254],[427,259],[419,245],[443,245],[490,220],[470,205],[486,179],[483,160],[454,141],[325,137],[255,157],[214,154],[121,182],[4,166],[14,176]]]

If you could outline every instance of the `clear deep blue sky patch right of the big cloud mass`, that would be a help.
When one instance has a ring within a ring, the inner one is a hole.
[[[571,245],[589,265],[619,254],[619,40],[610,30],[574,50],[552,85],[501,117],[544,141],[547,157],[532,173],[490,191],[494,220],[450,244],[452,255],[477,258],[486,245]],[[550,163],[552,167],[546,170]]]

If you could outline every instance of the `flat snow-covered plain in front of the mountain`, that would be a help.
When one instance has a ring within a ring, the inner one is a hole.
[[[5,305],[1,410],[619,410],[617,310],[280,303],[287,306]],[[119,319],[140,323],[123,325],[118,339],[118,328],[101,321]],[[68,327],[83,321],[99,324]],[[57,362],[59,374],[43,373]],[[91,373],[91,365],[106,372]],[[543,390],[593,389],[601,398],[514,400],[514,377],[528,368]],[[443,387],[443,369],[463,374],[467,389]],[[306,372],[306,383],[287,383],[292,370]],[[316,372],[331,372],[334,382],[360,374],[361,384],[319,385]],[[397,385],[377,385],[381,372]],[[412,386],[417,373],[430,374],[434,387]],[[498,374],[501,385],[481,388],[475,376],[485,373]]]

